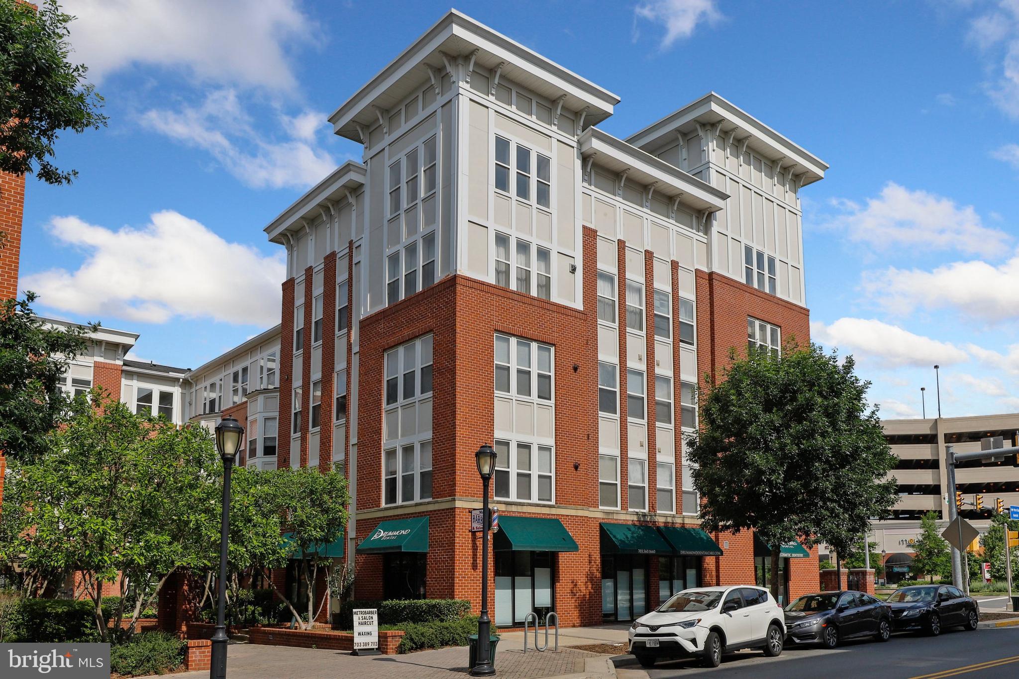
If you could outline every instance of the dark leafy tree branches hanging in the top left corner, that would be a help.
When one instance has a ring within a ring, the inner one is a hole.
[[[103,98],[86,83],[88,70],[68,61],[67,23],[56,0],[37,10],[16,0],[0,2],[0,170],[36,172],[50,184],[70,182],[75,170],[50,160],[61,130],[99,129]]]

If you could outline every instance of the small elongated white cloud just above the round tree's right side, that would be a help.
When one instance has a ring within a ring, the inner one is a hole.
[[[949,342],[916,335],[874,319],[842,318],[826,325],[811,322],[810,336],[829,347],[852,353],[857,359],[884,366],[934,363],[949,365],[968,359],[965,351]]]

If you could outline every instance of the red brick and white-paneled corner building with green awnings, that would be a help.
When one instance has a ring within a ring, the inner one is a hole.
[[[277,464],[342,469],[358,598],[480,592],[499,625],[627,620],[764,582],[683,457],[732,347],[809,339],[800,189],[827,166],[711,93],[620,139],[619,99],[451,11],[333,113],[364,147],[265,229],[286,247]],[[193,399],[194,400],[194,399]],[[786,596],[816,550],[782,547]]]

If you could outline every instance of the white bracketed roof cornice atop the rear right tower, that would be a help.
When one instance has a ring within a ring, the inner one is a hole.
[[[656,149],[676,138],[677,131],[690,133],[697,129],[697,122],[722,123],[721,131],[737,130],[737,137],[751,136],[749,146],[771,160],[786,158],[785,167],[793,167],[795,174],[803,174],[804,185],[824,178],[827,163],[803,147],[768,127],[763,122],[714,92],[669,113],[626,138],[641,149]]]

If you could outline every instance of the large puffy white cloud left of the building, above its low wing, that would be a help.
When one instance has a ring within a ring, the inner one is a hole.
[[[228,242],[177,212],[154,213],[141,229],[112,230],[73,216],[53,218],[48,229],[59,244],[87,254],[76,271],[22,279],[44,306],[142,323],[279,323],[282,254]]]

